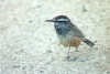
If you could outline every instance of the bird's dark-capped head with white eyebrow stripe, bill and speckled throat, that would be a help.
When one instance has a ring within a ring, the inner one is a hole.
[[[67,32],[70,30],[70,20],[66,15],[57,15],[46,22],[53,22],[57,32]]]

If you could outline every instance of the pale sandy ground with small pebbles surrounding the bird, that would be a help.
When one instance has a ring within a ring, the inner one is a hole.
[[[65,14],[96,42],[58,45],[52,23]],[[110,0],[0,0],[0,74],[110,74]]]

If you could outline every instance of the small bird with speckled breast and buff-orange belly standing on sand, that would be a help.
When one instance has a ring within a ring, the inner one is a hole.
[[[95,43],[86,39],[84,33],[69,20],[67,15],[57,15],[52,20],[46,20],[45,22],[53,22],[54,28],[59,40],[59,44],[68,46],[67,59],[69,59],[70,47],[76,47],[75,52],[78,52],[78,47],[81,42],[89,46],[94,46]]]

